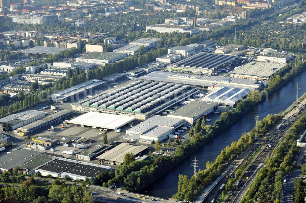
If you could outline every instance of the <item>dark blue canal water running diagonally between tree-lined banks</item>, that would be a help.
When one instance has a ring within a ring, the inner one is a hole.
[[[241,134],[250,131],[255,126],[254,118],[258,114],[262,119],[267,114],[277,114],[289,107],[296,100],[296,83],[300,84],[299,96],[306,92],[306,71],[295,76],[290,82],[269,95],[268,101],[259,103],[247,114],[238,119],[233,125],[215,136],[200,149],[196,150],[185,160],[157,179],[142,192],[147,191],[147,195],[167,198],[172,197],[177,192],[178,175],[184,174],[191,177],[194,169],[191,167],[192,159],[196,157],[200,169],[205,169],[207,161],[214,161],[221,150],[240,138]]]

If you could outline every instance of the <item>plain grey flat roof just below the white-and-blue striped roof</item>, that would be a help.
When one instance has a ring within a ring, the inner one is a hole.
[[[182,116],[187,118],[193,118],[200,114],[203,114],[203,112],[217,106],[217,103],[213,102],[202,102],[202,101],[192,101],[180,108],[178,108],[175,112],[172,112],[168,115],[174,115],[174,116]],[[167,115],[167,116],[168,116]]]

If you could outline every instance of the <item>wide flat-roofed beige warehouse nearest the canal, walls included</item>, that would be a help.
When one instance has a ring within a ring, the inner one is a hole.
[[[253,80],[269,80],[275,73],[285,69],[284,63],[262,63],[252,61],[232,71],[233,78],[245,78]]]

